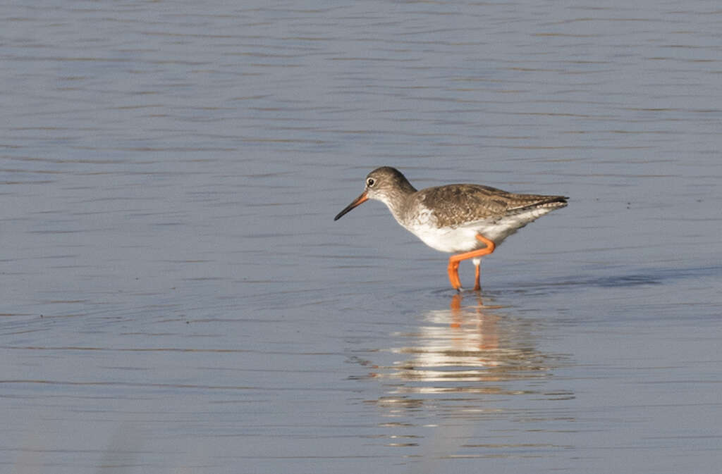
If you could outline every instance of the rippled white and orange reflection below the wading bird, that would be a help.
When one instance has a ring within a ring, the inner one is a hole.
[[[455,294],[448,310],[431,310],[412,333],[402,333],[400,356],[375,377],[387,382],[380,405],[418,407],[419,395],[469,401],[485,395],[534,393],[529,383],[549,376],[549,357],[534,348],[531,322],[484,304],[479,294]],[[451,394],[456,394],[453,396]]]

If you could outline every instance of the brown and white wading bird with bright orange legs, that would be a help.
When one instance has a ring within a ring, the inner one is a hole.
[[[506,237],[529,222],[567,205],[565,196],[515,194],[473,184],[453,184],[417,190],[396,168],[384,166],[370,172],[361,196],[334,217],[359,204],[376,199],[386,204],[401,227],[419,237],[426,245],[449,258],[451,286],[461,291],[458,264],[471,258],[476,265],[479,290],[479,265]]]

